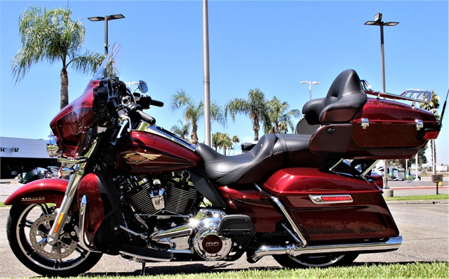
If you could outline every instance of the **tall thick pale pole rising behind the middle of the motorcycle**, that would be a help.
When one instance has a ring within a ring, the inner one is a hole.
[[[209,23],[208,0],[203,0],[203,89],[204,89],[204,143],[212,146],[210,134],[210,77],[209,77]]]

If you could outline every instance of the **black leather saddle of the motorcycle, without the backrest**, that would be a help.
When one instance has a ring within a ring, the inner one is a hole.
[[[273,174],[284,164],[290,164],[288,156],[292,156],[292,153],[308,151],[310,137],[311,135],[266,134],[249,152],[235,156],[222,155],[208,145],[199,143],[196,153],[203,159],[209,179],[222,185],[251,183]],[[293,158],[290,161],[293,162]]]

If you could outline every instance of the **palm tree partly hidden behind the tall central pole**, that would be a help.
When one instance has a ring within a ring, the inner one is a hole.
[[[175,95],[171,96],[170,108],[172,110],[183,109],[182,113],[184,114],[185,121],[192,124],[192,133],[190,134],[192,144],[197,145],[198,122],[204,115],[203,101],[197,102],[192,96],[185,93],[184,89],[181,89],[180,91],[177,91]],[[210,119],[213,119],[222,125],[226,124],[226,117],[222,108],[214,102],[210,103]]]

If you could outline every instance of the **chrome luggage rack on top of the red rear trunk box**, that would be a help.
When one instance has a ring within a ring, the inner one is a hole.
[[[377,96],[377,100],[380,98],[389,98],[393,100],[410,100],[412,102],[412,106],[415,106],[415,103],[425,103],[428,104],[431,101],[432,93],[431,91],[424,91],[420,89],[407,89],[401,95],[396,95],[393,93],[384,93],[377,92],[371,89],[370,84],[366,82],[366,80],[361,80],[362,89],[370,95]]]

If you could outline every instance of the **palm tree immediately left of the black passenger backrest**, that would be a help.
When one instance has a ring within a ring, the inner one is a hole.
[[[267,108],[269,122],[264,124],[265,134],[286,134],[288,127],[293,131],[295,128],[292,117],[301,117],[300,110],[288,110],[288,103],[281,103],[281,100],[276,98],[276,96],[272,100],[267,101]]]

